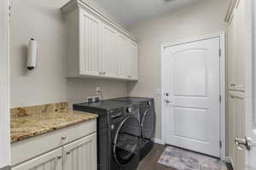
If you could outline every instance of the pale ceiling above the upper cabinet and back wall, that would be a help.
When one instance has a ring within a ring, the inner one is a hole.
[[[108,10],[124,26],[131,26],[159,14],[166,14],[173,9],[182,8],[199,0],[95,0]]]

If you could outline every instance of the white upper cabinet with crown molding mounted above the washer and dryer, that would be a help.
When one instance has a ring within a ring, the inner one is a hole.
[[[137,81],[137,42],[82,0],[61,8],[67,25],[67,77]]]

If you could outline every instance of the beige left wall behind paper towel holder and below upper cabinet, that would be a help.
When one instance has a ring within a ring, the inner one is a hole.
[[[12,0],[11,107],[80,102],[102,87],[106,98],[127,95],[126,82],[67,79],[67,33],[61,6],[68,0]],[[38,68],[26,70],[29,38],[38,41]]]

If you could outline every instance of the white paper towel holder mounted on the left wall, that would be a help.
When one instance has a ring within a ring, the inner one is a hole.
[[[32,71],[37,67],[38,43],[34,38],[28,42],[27,69]]]

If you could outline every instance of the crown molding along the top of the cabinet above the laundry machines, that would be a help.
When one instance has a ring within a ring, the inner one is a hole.
[[[120,26],[118,22],[112,20],[108,14],[103,14],[99,8],[96,8],[95,4],[90,3],[88,0],[70,0],[68,3],[61,7],[61,12],[63,14],[69,14],[77,8],[83,8],[86,11],[95,14],[106,24],[113,26],[115,29],[119,30],[120,33],[124,34],[126,37],[131,38],[131,40],[134,42],[137,42],[137,39],[131,35],[130,32],[126,31],[126,29],[123,26]]]

